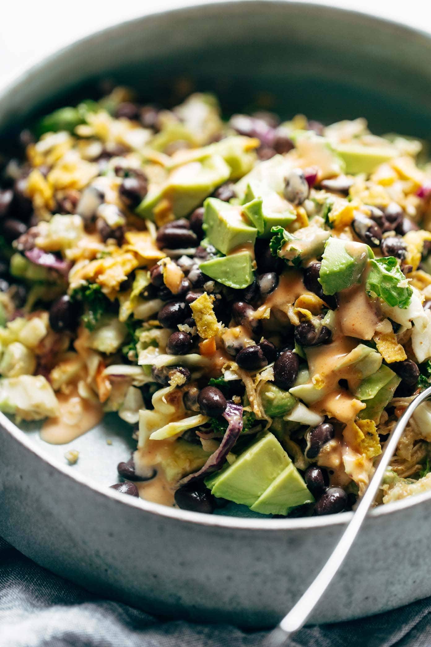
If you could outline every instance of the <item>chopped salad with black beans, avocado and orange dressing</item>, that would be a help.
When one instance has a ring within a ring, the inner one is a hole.
[[[112,487],[132,496],[351,509],[431,384],[425,142],[123,87],[19,139],[1,170],[0,410],[50,443],[116,411],[137,444]],[[424,403],[376,503],[431,488],[430,459]]]

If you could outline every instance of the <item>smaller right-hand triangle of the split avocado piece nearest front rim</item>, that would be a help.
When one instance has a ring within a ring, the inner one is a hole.
[[[251,510],[262,514],[288,514],[289,508],[313,501],[304,479],[291,463],[260,495]]]

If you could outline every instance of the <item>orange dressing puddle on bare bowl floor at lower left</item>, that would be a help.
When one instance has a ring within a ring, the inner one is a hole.
[[[88,432],[103,418],[101,404],[85,400],[74,389],[57,395],[60,413],[43,423],[41,439],[45,443],[65,444]]]

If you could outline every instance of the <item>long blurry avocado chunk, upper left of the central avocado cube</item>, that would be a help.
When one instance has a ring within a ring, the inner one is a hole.
[[[174,216],[182,218],[202,204],[205,197],[223,184],[230,174],[230,166],[220,155],[178,166],[161,186],[150,186],[149,192],[136,208],[136,214],[154,220],[154,209],[165,200]]]

